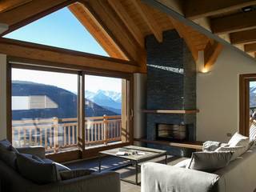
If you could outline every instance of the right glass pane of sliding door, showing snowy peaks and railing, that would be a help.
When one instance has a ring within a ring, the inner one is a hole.
[[[122,142],[126,129],[126,80],[85,76],[86,148]]]

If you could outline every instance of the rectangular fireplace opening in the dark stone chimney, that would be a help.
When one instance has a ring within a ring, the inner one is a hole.
[[[156,139],[173,142],[185,142],[188,140],[187,125],[156,124]]]

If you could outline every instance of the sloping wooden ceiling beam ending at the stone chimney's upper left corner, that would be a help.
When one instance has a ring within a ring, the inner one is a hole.
[[[138,44],[142,47],[145,47],[144,35],[138,26],[136,26],[133,19],[130,18],[126,8],[122,6],[122,3],[119,0],[108,0],[108,2],[114,11],[118,14],[119,18],[122,19],[122,22],[126,24],[126,27],[130,30],[130,33],[134,35],[134,38],[137,40]]]

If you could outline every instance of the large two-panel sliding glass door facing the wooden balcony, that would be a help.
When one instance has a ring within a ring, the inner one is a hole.
[[[15,147],[40,145],[58,153],[129,142],[128,79],[17,64],[11,74]]]

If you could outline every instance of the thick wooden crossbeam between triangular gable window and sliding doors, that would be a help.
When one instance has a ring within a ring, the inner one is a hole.
[[[140,70],[134,62],[6,38],[0,38],[0,53],[17,58],[54,62],[57,63],[59,68],[64,68],[68,65],[69,68],[70,66],[74,66],[74,69],[88,67],[90,69],[112,70],[126,73],[135,73]]]

